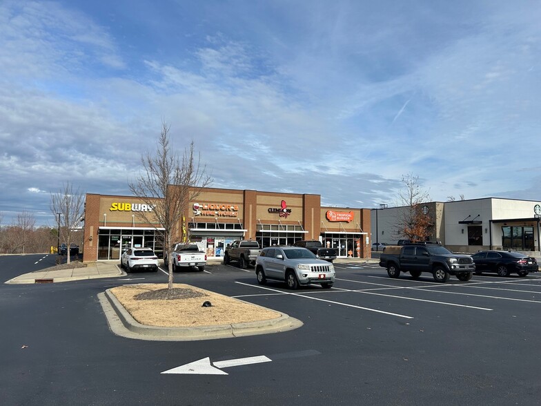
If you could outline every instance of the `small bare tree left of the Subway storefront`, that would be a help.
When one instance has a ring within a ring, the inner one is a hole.
[[[59,219],[59,239],[66,242],[66,262],[70,263],[70,246],[74,233],[79,228],[84,213],[85,193],[81,189],[73,189],[70,182],[62,184],[62,189],[51,193],[50,211]]]

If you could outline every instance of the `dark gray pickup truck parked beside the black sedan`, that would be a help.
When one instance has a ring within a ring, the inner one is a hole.
[[[421,273],[429,272],[436,282],[447,282],[451,275],[459,280],[470,280],[475,271],[470,255],[455,254],[439,244],[425,242],[385,247],[380,267],[386,268],[391,278],[398,278],[400,272],[409,272],[417,279]]]

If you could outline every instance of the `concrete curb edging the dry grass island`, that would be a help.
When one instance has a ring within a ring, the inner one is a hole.
[[[290,317],[285,313],[271,320],[257,322],[244,322],[228,325],[201,326],[201,327],[155,327],[141,325],[137,322],[119,300],[107,289],[99,293],[104,313],[108,318],[113,333],[127,338],[139,340],[161,340],[161,341],[194,341],[214,340],[217,338],[233,338],[243,336],[255,336],[257,334],[271,334],[282,331],[297,329],[303,325],[300,320]],[[250,303],[250,305],[253,305]],[[257,305],[253,305],[257,306]],[[109,308],[108,308],[109,307]],[[111,317],[111,310],[116,317]],[[119,324],[121,326],[119,326]],[[120,328],[122,327],[122,328]]]

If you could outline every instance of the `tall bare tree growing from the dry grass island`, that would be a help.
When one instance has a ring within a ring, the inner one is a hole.
[[[170,126],[162,121],[155,155],[145,153],[141,157],[144,171],[133,183],[130,191],[153,206],[151,212],[139,211],[137,215],[155,226],[164,240],[164,258],[168,258],[173,245],[173,232],[179,224],[190,200],[195,200],[201,189],[212,179],[207,175],[206,165],[201,164],[201,155],[195,154],[194,142],[179,155],[173,150],[169,137]],[[159,229],[161,227],[161,229]],[[168,291],[173,289],[173,263],[168,261]]]

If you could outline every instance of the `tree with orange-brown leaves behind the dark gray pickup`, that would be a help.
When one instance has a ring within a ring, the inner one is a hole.
[[[430,201],[429,192],[419,184],[419,177],[409,173],[402,175],[404,189],[398,193],[399,206],[404,206],[398,213],[397,235],[412,241],[424,241],[431,235],[432,221],[424,213],[423,203]]]

